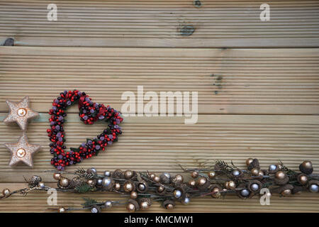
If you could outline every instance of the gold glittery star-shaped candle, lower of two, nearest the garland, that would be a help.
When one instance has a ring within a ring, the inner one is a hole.
[[[17,165],[19,162],[24,162],[26,165],[33,167],[33,155],[41,148],[40,145],[33,145],[28,143],[26,133],[23,133],[19,138],[18,143],[5,143],[12,154],[9,162],[10,166]]]

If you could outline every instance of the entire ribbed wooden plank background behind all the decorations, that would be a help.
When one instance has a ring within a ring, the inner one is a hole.
[[[55,3],[58,21],[47,21]],[[47,111],[65,89],[121,110],[123,92],[198,92],[198,122],[183,117],[126,117],[123,135],[106,153],[82,162],[98,170],[180,172],[216,159],[244,167],[257,157],[262,167],[282,160],[296,170],[303,160],[319,168],[319,1],[267,1],[271,20],[260,21],[263,1],[0,1],[0,189],[26,185],[42,175],[54,185],[48,150]],[[185,26],[194,33],[184,35]],[[30,143],[43,146],[35,167],[10,168],[3,143],[21,135],[5,125],[6,99],[30,96],[40,118],[28,126]],[[68,110],[67,147],[102,130],[84,126]],[[78,166],[79,167],[79,166]],[[75,170],[69,167],[69,170]],[[103,201],[115,194],[91,194]],[[47,194],[0,200],[0,211],[47,211]],[[59,206],[80,206],[82,195],[60,194]],[[158,205],[158,206],[157,206]],[[124,211],[118,207],[113,211]],[[164,211],[159,204],[149,210]],[[185,212],[319,211],[317,194],[259,199],[194,199]]]

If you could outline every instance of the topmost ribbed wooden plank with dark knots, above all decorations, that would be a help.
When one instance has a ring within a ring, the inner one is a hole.
[[[0,43],[77,47],[318,47],[318,1],[0,1]]]

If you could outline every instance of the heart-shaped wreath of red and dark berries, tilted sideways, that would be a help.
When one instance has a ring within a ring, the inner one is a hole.
[[[93,124],[95,121],[104,120],[108,122],[108,128],[103,133],[97,135],[94,139],[86,139],[86,143],[82,143],[79,148],[70,148],[65,151],[65,131],[63,123],[67,114],[65,110],[79,101],[79,116],[81,121],[86,124]],[[121,113],[103,104],[97,104],[91,101],[91,98],[85,92],[65,91],[60,93],[60,97],[53,101],[52,109],[50,109],[49,118],[51,128],[47,129],[50,137],[50,153],[54,155],[51,159],[51,165],[57,170],[65,170],[68,165],[75,165],[82,160],[98,155],[100,150],[105,150],[107,145],[111,145],[118,140],[118,135],[122,134],[119,123],[123,121]]]

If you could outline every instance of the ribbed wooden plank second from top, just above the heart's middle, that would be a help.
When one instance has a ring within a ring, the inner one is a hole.
[[[318,62],[316,48],[0,47],[0,111],[28,95],[46,112],[65,89],[121,111],[123,92],[143,86],[198,92],[199,114],[319,114]]]

